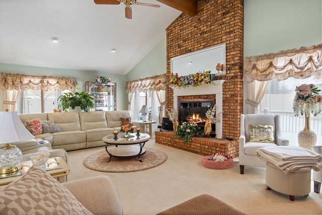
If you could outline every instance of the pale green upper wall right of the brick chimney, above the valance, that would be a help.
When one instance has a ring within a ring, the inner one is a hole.
[[[321,43],[322,0],[245,0],[244,56]]]

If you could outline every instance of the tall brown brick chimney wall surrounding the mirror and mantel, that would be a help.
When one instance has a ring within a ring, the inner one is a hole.
[[[170,59],[199,49],[226,43],[226,75],[223,84],[222,137],[238,140],[243,113],[244,1],[198,1],[198,15],[182,13],[167,28],[167,76]],[[197,72],[197,71],[196,71]],[[173,89],[167,88],[167,109],[173,108]],[[195,96],[198,99],[200,96]],[[198,97],[198,98],[197,98]],[[177,101],[176,101],[177,102]]]

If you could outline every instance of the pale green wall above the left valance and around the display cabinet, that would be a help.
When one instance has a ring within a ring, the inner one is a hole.
[[[94,71],[81,71],[71,69],[47,68],[37,66],[25,66],[0,63],[1,73],[17,73],[26,75],[46,75],[56,77],[75,77],[79,86],[79,91],[85,91],[86,81],[95,81],[97,76],[110,77],[116,83],[116,108],[117,110],[127,109],[127,94],[125,93],[125,76],[96,73]],[[0,89],[0,111],[3,111],[4,91]]]

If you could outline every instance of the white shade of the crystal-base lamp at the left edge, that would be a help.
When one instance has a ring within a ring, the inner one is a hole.
[[[30,140],[32,135],[18,116],[18,112],[0,112],[0,144]]]

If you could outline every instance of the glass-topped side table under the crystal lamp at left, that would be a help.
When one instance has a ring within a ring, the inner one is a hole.
[[[70,173],[70,167],[61,157],[49,158],[47,161],[46,171],[53,177],[57,178],[60,183],[67,181],[67,175]],[[32,166],[31,161],[21,162],[21,169],[15,175],[2,176],[0,175],[0,186],[10,184],[16,179],[23,176],[23,174]]]

